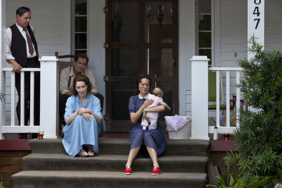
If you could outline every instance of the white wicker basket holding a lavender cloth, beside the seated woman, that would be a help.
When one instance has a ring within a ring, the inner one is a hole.
[[[172,126],[167,123],[167,131],[169,139],[190,139],[191,137],[191,126],[192,126],[192,118],[187,120],[186,123],[182,124],[177,132],[173,129]]]

